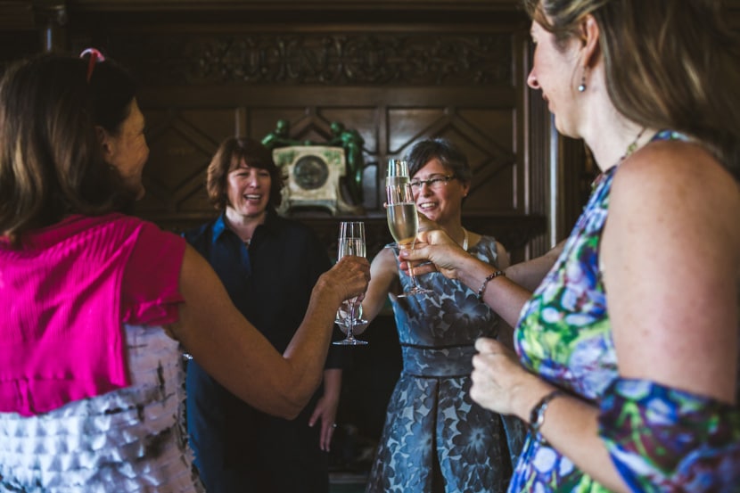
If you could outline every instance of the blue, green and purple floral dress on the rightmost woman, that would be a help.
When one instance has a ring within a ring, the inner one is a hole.
[[[682,139],[670,131],[654,140]],[[563,252],[514,333],[523,366],[600,407],[599,435],[633,491],[740,491],[740,411],[716,400],[623,379],[599,269],[619,165],[596,178]],[[527,437],[512,492],[605,492],[540,436]]]

